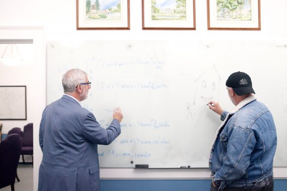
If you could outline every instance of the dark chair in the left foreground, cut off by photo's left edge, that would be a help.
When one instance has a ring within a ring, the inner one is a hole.
[[[0,189],[11,185],[14,191],[21,147],[22,138],[18,134],[10,134],[0,143]]]

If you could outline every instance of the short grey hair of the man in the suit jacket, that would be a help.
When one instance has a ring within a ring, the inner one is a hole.
[[[64,93],[73,93],[76,90],[77,85],[86,82],[86,77],[88,77],[87,73],[80,69],[71,69],[67,71],[62,78]]]

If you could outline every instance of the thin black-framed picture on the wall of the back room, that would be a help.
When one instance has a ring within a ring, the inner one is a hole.
[[[0,120],[26,119],[26,86],[0,86]]]

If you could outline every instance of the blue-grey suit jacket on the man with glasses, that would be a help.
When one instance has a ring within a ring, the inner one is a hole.
[[[48,105],[40,124],[38,191],[99,191],[97,145],[109,145],[120,133],[117,119],[104,129],[69,96]]]

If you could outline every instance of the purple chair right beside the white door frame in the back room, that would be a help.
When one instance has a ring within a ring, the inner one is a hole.
[[[32,164],[33,164],[33,123],[28,123],[24,126],[23,131],[23,143],[21,155],[23,159],[23,163],[25,163],[24,155],[32,156]]]

